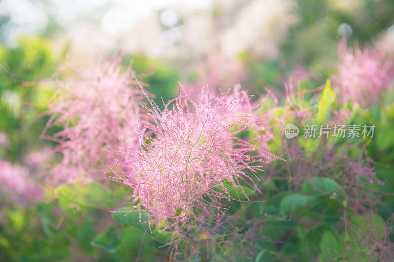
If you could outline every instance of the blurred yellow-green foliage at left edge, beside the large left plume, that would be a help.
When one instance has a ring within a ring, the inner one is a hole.
[[[49,85],[37,85],[56,71],[57,61],[47,40],[20,39],[19,46],[0,46],[0,132],[9,139],[9,148],[0,156],[21,159],[28,147],[39,149],[38,137],[47,117],[38,116],[53,94]]]

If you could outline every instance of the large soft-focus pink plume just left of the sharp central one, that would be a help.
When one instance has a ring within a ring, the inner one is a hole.
[[[122,72],[121,57],[98,58],[94,66],[77,67],[71,63],[61,68],[65,77],[57,77],[58,90],[49,102],[51,118],[43,137],[59,143],[61,163],[53,170],[56,180],[80,177],[100,178],[114,164],[120,141],[138,146],[136,114],[142,96],[132,85],[130,73]],[[53,137],[48,128],[61,125]],[[108,149],[108,150],[105,150]]]

